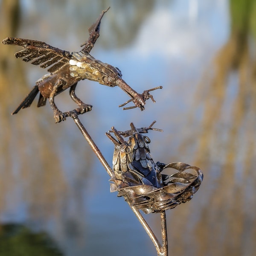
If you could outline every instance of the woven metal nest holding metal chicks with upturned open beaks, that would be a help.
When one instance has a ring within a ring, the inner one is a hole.
[[[131,123],[131,130],[121,132],[112,127],[117,140],[106,133],[114,143],[113,174],[111,192],[117,191],[124,196],[132,207],[145,213],[162,212],[191,200],[203,180],[203,173],[196,166],[186,163],[154,163],[148,143],[144,136],[148,130],[160,129],[136,128]],[[129,137],[125,141],[123,137]],[[167,168],[176,169],[170,175],[162,174]]]

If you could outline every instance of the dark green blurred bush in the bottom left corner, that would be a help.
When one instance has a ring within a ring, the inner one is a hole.
[[[0,256],[61,256],[46,233],[33,233],[17,224],[0,226]]]

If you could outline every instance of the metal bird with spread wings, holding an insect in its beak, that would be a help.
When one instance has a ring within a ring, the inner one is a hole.
[[[118,86],[124,90],[131,99],[119,107],[122,107],[131,101],[134,103],[134,106],[123,109],[139,107],[143,111],[147,99],[151,98],[152,101],[155,102],[153,96],[150,95],[149,92],[160,89],[162,88],[161,86],[145,90],[142,94],[137,93],[121,78],[122,73],[118,68],[96,60],[90,55],[90,50],[93,48],[99,37],[101,19],[108,9],[103,11],[96,20],[96,23],[89,28],[89,39],[81,45],[83,48],[79,52],[70,53],[52,47],[44,42],[29,39],[9,37],[3,40],[3,44],[18,45],[24,48],[15,53],[16,58],[22,58],[22,60],[26,62],[32,61],[31,64],[40,65],[42,68],[49,67],[47,70],[49,73],[35,82],[35,86],[30,93],[23,99],[12,114],[18,113],[21,108],[29,107],[35,99],[35,96],[39,93],[37,106],[44,106],[47,99],[49,99],[51,108],[54,111],[55,122],[61,122],[66,119],[69,112],[62,113],[55,105],[54,98],[67,88],[70,88],[69,93],[71,99],[79,105],[79,108],[76,109],[77,113],[90,111],[92,106],[82,102],[75,93],[78,81],[84,79],[97,81],[100,84],[110,87]]]

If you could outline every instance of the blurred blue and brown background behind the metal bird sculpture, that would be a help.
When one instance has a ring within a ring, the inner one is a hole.
[[[163,89],[145,111],[123,111],[118,87],[80,81],[77,95],[93,105],[81,122],[111,166],[105,132],[156,120],[164,132],[148,134],[154,161],[203,170],[192,201],[167,212],[170,256],[255,255],[256,2],[0,0],[0,40],[79,51],[108,6],[90,53],[140,93]],[[18,50],[0,44],[0,256],[156,255],[72,119],[55,124],[48,103],[11,116],[47,73],[16,59]],[[76,107],[68,91],[56,104]],[[160,235],[160,216],[145,217]]]

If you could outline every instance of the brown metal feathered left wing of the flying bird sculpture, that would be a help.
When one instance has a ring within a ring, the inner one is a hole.
[[[72,55],[70,52],[52,47],[41,41],[22,39],[22,38],[6,38],[3,44],[19,45],[24,49],[16,52],[16,58],[22,58],[23,61],[31,61],[31,64],[40,65],[47,68],[50,73],[55,73],[65,64],[68,64]]]

